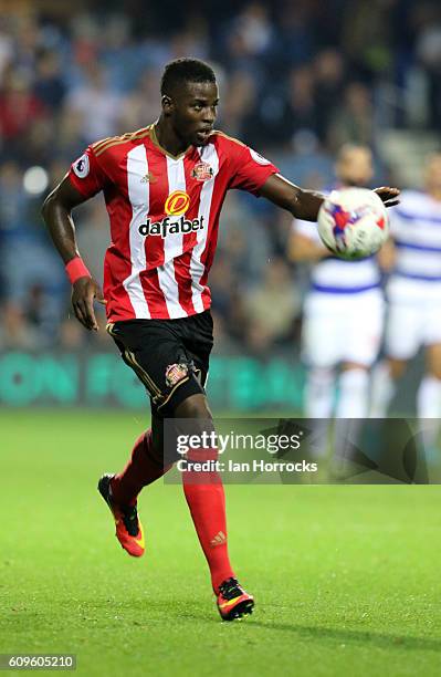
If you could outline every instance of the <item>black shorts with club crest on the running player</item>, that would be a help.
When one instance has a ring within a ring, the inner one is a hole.
[[[210,311],[178,320],[114,322],[107,332],[146,386],[153,414],[171,417],[187,397],[204,394],[213,346]]]

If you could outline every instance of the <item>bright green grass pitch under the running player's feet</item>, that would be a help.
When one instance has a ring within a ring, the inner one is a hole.
[[[0,653],[75,653],[85,676],[440,675],[438,487],[229,487],[256,610],[225,624],[180,487],[144,492],[145,558],[113,537],[96,480],[141,429],[0,414]]]

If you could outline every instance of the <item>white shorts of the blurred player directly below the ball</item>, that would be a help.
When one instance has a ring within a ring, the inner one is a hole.
[[[377,358],[385,302],[379,289],[355,294],[311,292],[305,301],[302,353],[309,366],[355,362],[369,367]]]

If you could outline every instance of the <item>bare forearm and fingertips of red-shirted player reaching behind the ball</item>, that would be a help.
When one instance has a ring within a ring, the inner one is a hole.
[[[398,188],[384,186],[376,188],[375,192],[381,198],[386,207],[393,207],[398,204],[400,191]],[[305,190],[295,186],[280,174],[273,174],[263,184],[259,192],[262,197],[274,202],[282,209],[287,209],[291,213],[305,221],[316,221],[318,210],[325,197],[314,190]]]

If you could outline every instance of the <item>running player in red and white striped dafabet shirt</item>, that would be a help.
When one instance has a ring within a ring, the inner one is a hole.
[[[212,347],[207,279],[227,190],[266,197],[301,219],[316,220],[323,201],[281,177],[254,150],[214,131],[218,103],[210,66],[193,59],[169,63],[159,119],[92,144],[43,206],[72,282],[77,320],[97,330],[94,299],[105,302],[108,333],[150,396],[151,429],[135,442],[124,470],[103,476],[98,483],[116,537],[133,556],[145,548],[137,496],[176,460],[164,452],[165,419],[188,419],[196,433],[212,426],[203,387]],[[104,294],[80,257],[71,217],[74,207],[101,190],[112,233]],[[385,204],[396,204],[397,189],[377,191]],[[216,458],[217,449],[202,451],[191,449],[187,457]],[[198,473],[190,465],[182,483],[220,615],[227,621],[241,617],[254,602],[230,564],[221,478],[216,471]]]

